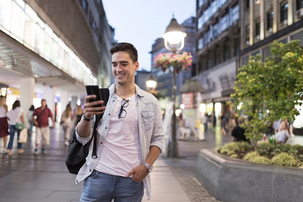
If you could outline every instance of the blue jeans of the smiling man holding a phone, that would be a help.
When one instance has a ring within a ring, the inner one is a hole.
[[[80,202],[141,202],[143,194],[143,182],[93,170],[84,180]]]

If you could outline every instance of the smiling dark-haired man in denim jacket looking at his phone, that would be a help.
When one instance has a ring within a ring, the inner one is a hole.
[[[93,107],[103,101],[89,102],[76,126],[76,137],[86,144],[92,136],[95,115],[104,112],[97,126],[97,158],[91,157],[76,177],[84,180],[80,202],[141,202],[144,189],[151,198],[152,164],[163,149],[164,130],[158,100],[135,84],[139,68],[137,50],[129,43],[118,43],[112,54],[112,73],[116,83],[109,87],[106,107]],[[93,141],[92,141],[93,142]]]

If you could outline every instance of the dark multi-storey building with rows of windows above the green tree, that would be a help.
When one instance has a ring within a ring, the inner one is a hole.
[[[203,110],[217,118],[249,57],[270,55],[273,40],[303,39],[303,0],[197,0],[197,72]],[[302,42],[301,42],[302,43]]]

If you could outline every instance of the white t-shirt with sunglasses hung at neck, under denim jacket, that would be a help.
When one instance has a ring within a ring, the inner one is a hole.
[[[139,161],[138,117],[135,94],[123,109],[122,117],[118,118],[122,99],[117,96],[115,107],[109,121],[108,133],[103,143],[100,158],[95,170],[111,175],[125,176]],[[124,101],[123,101],[124,103]]]

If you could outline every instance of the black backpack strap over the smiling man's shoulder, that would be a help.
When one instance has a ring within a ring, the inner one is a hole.
[[[109,98],[109,89],[108,88],[100,88],[99,91],[101,93],[102,100],[104,101],[103,106],[106,106],[108,98]],[[100,119],[103,117],[103,114],[104,113],[96,115],[96,122],[93,126],[92,138],[97,135],[97,125],[98,125]],[[93,147],[92,147],[91,157],[92,158],[98,158],[98,156],[97,156],[97,138],[96,137],[93,139]]]

